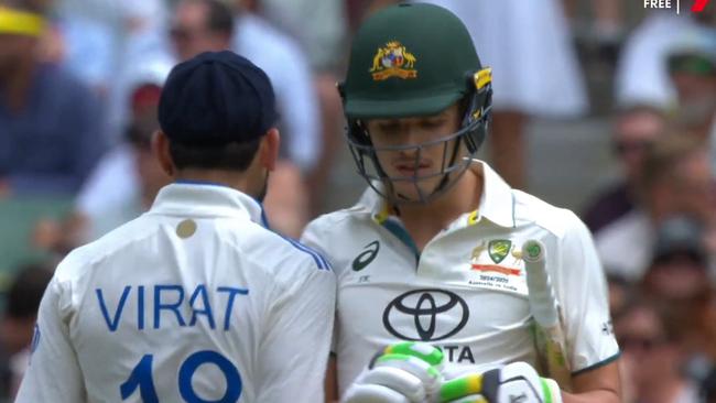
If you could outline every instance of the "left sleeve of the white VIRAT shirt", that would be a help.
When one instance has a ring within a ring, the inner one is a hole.
[[[63,311],[64,285],[55,276],[40,304],[30,367],[18,392],[17,403],[85,402],[85,384],[77,356],[69,342]]]

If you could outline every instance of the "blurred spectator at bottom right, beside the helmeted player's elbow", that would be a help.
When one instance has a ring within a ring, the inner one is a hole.
[[[691,403],[698,390],[681,373],[684,352],[654,306],[636,301],[615,323],[621,348],[625,403]]]

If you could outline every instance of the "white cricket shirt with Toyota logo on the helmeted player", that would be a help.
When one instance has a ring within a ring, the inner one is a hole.
[[[487,164],[479,208],[415,249],[369,189],[354,207],[310,224],[303,241],[338,281],[334,352],[340,393],[386,345],[423,340],[457,366],[535,364],[524,262],[536,239],[563,306],[573,371],[618,357],[606,281],[592,237],[571,211],[511,189]]]

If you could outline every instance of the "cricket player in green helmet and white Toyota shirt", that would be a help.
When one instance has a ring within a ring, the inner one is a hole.
[[[389,7],[357,32],[339,90],[348,144],[370,187],[302,238],[338,282],[328,399],[620,400],[619,349],[588,230],[475,159],[490,83],[465,26],[440,7]],[[546,379],[533,337],[522,250],[532,240],[543,246],[562,311],[562,384]]]

